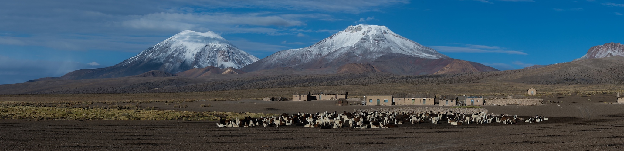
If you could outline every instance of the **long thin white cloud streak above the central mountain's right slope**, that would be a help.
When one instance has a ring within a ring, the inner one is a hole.
[[[505,48],[487,45],[470,45],[465,46],[430,46],[438,52],[464,52],[464,53],[507,53],[514,55],[529,55],[524,52],[514,50],[504,50]]]

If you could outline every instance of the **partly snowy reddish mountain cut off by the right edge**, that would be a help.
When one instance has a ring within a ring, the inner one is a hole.
[[[624,56],[624,45],[620,43],[605,43],[604,45],[597,45],[587,50],[587,54],[581,58],[577,58],[574,61],[585,60],[590,58],[605,58],[613,56]]]

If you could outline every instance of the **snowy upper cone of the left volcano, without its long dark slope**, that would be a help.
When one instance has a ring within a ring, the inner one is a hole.
[[[258,60],[214,32],[184,30],[115,66],[158,63],[158,70],[178,73],[211,65],[240,69]]]

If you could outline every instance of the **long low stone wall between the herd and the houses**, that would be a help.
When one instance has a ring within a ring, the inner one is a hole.
[[[376,109],[353,109],[354,112],[364,111],[364,112],[458,112],[465,114],[476,114],[479,112],[487,113],[487,109],[483,108],[436,108],[436,107],[424,107],[424,108],[376,108]]]

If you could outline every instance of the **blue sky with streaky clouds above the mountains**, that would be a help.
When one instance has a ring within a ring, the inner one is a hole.
[[[0,84],[115,65],[182,30],[212,30],[264,58],[349,25],[385,25],[499,70],[570,62],[623,42],[624,1],[6,1]]]

